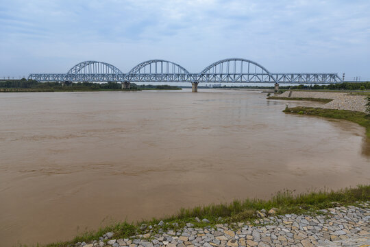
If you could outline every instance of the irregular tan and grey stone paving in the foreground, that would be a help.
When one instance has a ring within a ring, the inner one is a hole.
[[[269,211],[271,212],[271,211]],[[197,228],[187,223],[184,228],[154,233],[164,222],[154,226],[141,226],[144,235],[130,239],[112,239],[106,233],[92,243],[77,243],[76,247],[130,246],[130,247],[193,247],[193,246],[369,246],[369,202],[361,207],[335,207],[321,210],[317,215],[273,215],[258,211],[259,220],[254,224],[220,222],[215,226]],[[196,219],[199,220],[199,219]],[[221,220],[221,219],[219,219]],[[204,219],[203,222],[208,222]],[[222,220],[221,220],[222,221]]]

